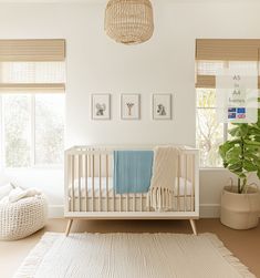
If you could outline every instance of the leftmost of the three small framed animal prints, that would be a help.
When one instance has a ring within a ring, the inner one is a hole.
[[[111,120],[111,94],[92,94],[92,120]]]

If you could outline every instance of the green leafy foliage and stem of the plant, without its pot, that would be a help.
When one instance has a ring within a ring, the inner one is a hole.
[[[233,123],[228,131],[230,140],[219,146],[223,167],[238,177],[238,193],[247,191],[249,173],[257,173],[260,179],[260,110],[253,124]]]

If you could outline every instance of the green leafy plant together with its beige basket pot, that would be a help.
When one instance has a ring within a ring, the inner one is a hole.
[[[235,229],[256,227],[260,213],[258,185],[249,185],[250,173],[260,179],[260,110],[254,124],[232,124],[230,140],[219,146],[223,167],[237,176],[236,186],[223,187],[220,222]]]

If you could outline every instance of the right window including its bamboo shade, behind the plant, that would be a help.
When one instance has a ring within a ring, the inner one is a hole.
[[[218,147],[228,138],[231,124],[217,121],[216,74],[218,70],[260,70],[260,40],[197,39],[196,40],[196,94],[197,147],[201,167],[221,167]],[[260,76],[258,76],[260,87]]]

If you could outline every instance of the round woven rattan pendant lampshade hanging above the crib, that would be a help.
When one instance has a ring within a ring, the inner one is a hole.
[[[149,40],[154,33],[153,7],[149,0],[110,0],[105,10],[106,34],[124,44]]]

